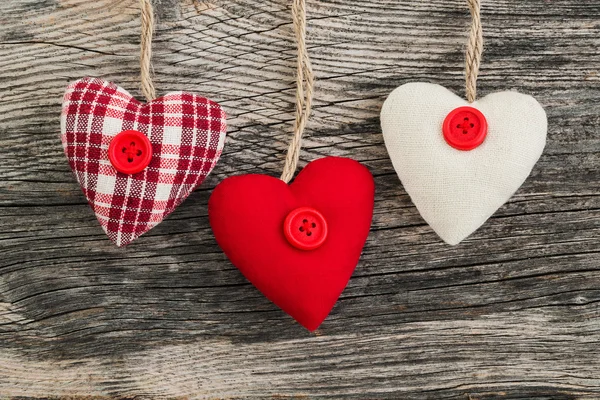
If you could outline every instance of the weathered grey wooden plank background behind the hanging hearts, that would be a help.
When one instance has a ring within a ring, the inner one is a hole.
[[[85,75],[141,97],[137,0],[0,2],[0,398],[599,399],[600,1],[483,0],[479,94],[535,96],[548,144],[456,247],[404,192],[379,110],[409,81],[462,93],[465,1],[308,1],[302,161],[352,157],[377,185],[363,257],[314,334],[228,262],[206,209],[223,178],[281,171],[289,3],[156,1],[159,94],[220,102],[229,136],[202,187],[119,249],[68,167],[59,113]]]

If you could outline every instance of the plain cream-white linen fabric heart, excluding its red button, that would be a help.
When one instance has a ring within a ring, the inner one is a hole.
[[[444,139],[446,116],[471,106],[487,119],[487,136],[469,151]],[[523,184],[546,144],[546,113],[531,96],[493,93],[472,104],[446,88],[409,83],[381,110],[394,169],[423,219],[448,244],[479,228]]]

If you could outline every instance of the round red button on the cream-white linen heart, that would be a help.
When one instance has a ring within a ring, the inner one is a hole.
[[[446,116],[443,132],[450,146],[458,150],[473,150],[485,140],[487,120],[476,108],[459,107]]]

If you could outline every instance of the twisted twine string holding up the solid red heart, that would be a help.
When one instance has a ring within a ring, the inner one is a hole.
[[[296,71],[296,120],[294,121],[294,137],[285,157],[285,165],[281,180],[288,183],[294,176],[300,159],[302,147],[302,134],[310,115],[312,106],[314,75],[306,49],[306,1],[293,0],[292,17],[294,19],[294,33],[298,47],[298,61]]]

